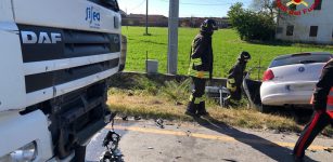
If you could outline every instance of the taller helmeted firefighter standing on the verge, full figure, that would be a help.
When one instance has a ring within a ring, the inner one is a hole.
[[[192,78],[194,90],[185,111],[189,116],[208,114],[203,95],[205,94],[206,79],[212,79],[213,77],[212,36],[214,30],[217,29],[218,27],[214,19],[204,21],[201,25],[200,33],[192,42],[189,76]]]

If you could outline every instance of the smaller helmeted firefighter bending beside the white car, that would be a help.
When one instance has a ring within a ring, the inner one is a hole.
[[[231,100],[239,102],[242,99],[242,83],[244,71],[249,59],[249,53],[243,51],[238,58],[238,63],[229,70],[227,89],[230,92]]]

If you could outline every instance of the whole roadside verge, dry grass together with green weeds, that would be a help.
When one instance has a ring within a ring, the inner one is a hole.
[[[113,111],[120,114],[139,116],[143,119],[193,121],[184,114],[190,96],[190,80],[123,73],[111,80],[111,86],[107,104]],[[244,105],[240,108],[221,108],[209,98],[206,103],[214,119],[231,126],[297,133],[304,126],[297,124],[292,117],[279,112],[265,114],[256,109],[245,108]],[[323,132],[326,136],[332,136],[332,133],[331,127]]]

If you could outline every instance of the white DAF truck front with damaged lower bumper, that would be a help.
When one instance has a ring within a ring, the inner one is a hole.
[[[116,0],[0,1],[0,162],[84,161],[124,69]]]

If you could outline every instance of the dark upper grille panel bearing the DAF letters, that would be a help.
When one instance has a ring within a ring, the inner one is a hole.
[[[17,26],[24,63],[120,52],[120,36],[117,33]],[[60,38],[54,39],[54,36]]]

